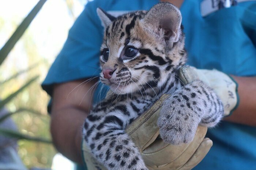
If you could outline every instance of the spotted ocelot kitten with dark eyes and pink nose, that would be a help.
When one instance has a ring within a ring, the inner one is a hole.
[[[113,17],[97,9],[105,26],[100,80],[113,95],[96,104],[83,135],[94,157],[108,169],[147,169],[125,127],[162,94],[172,94],[158,119],[160,135],[175,145],[192,141],[197,126],[214,126],[223,106],[206,84],[184,85],[177,70],[186,62],[181,13],[170,3]]]

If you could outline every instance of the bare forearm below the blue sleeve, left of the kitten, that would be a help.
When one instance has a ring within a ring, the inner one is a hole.
[[[96,80],[88,83],[84,81],[77,80],[54,86],[50,124],[56,149],[78,163],[82,163],[82,127],[92,105],[94,89],[91,87]],[[88,90],[92,92],[87,93]]]

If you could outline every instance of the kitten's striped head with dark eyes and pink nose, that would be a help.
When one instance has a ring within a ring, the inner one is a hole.
[[[105,27],[100,79],[116,94],[160,87],[184,64],[181,13],[174,5],[158,3],[117,18],[99,8],[97,13]]]

